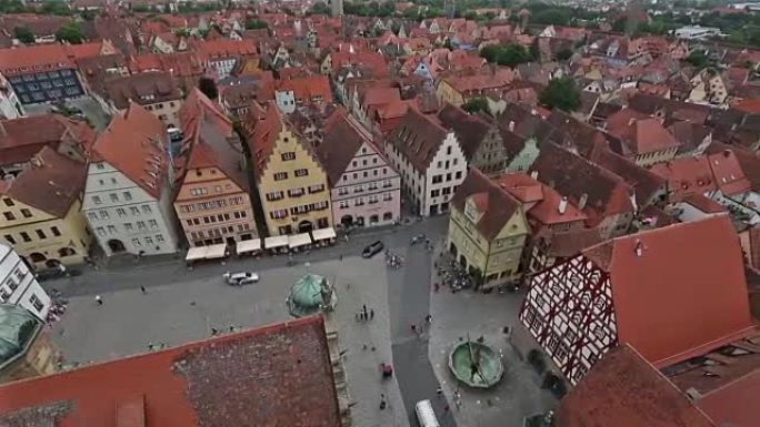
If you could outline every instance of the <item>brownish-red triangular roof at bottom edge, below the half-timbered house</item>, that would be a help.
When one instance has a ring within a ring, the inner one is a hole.
[[[716,427],[629,345],[608,352],[562,398],[557,427]]]

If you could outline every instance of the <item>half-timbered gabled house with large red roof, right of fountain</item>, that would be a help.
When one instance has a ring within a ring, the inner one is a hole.
[[[519,319],[573,385],[623,343],[662,368],[753,329],[726,215],[610,240],[540,272]]]

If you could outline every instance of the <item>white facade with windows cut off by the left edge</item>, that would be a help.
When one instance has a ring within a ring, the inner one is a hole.
[[[0,243],[0,303],[28,309],[46,322],[50,296],[40,286],[34,274],[12,247]]]

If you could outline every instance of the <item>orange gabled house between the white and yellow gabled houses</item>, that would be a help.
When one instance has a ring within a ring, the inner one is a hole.
[[[184,141],[176,160],[173,205],[189,245],[231,246],[257,237],[242,146],[232,122],[198,89],[184,101],[180,119]]]

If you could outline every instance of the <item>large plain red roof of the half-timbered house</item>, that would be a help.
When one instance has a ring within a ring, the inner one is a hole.
[[[610,275],[618,342],[658,367],[726,345],[753,326],[741,247],[727,215],[618,237],[583,253]]]

